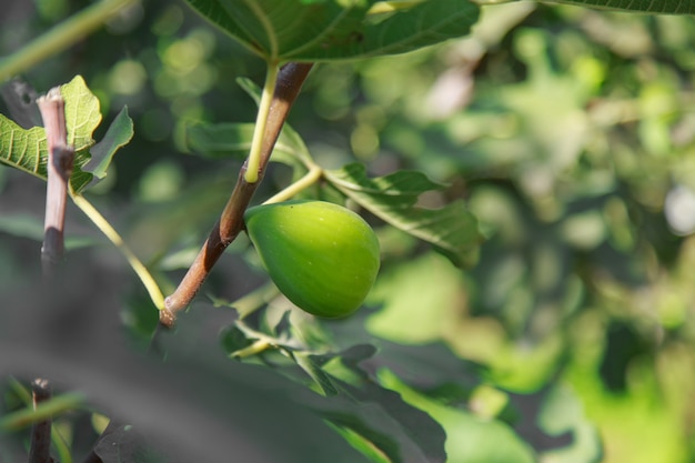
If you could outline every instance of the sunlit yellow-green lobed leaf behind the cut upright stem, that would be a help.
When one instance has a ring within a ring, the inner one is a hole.
[[[68,144],[74,148],[70,184],[73,191],[80,192],[90,184],[93,178],[93,173],[83,168],[91,159],[90,148],[94,144],[92,134],[101,123],[99,100],[89,90],[81,76],[74,77],[72,81],[62,85],[60,91],[66,100]],[[101,158],[99,158],[95,172],[99,174],[103,174],[102,169],[105,170],[113,155],[110,151],[115,151],[121,145],[118,143],[123,142],[129,120],[128,113],[119,114],[114,122],[114,132],[110,130],[111,134],[108,134],[109,138],[113,137],[114,141],[107,141],[107,144],[98,150]],[[46,130],[40,127],[24,130],[0,114],[0,162],[46,180],[48,162]]]

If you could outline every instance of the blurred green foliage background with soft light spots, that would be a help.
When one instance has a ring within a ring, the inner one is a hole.
[[[10,53],[87,3],[10,3],[0,51]],[[241,163],[195,155],[184,129],[252,121],[255,105],[235,79],[260,82],[264,66],[184,4],[150,0],[24,78],[42,92],[75,73],[99,95],[105,120],[127,104],[135,124],[133,142],[92,198],[172,289]],[[374,222],[383,271],[371,309],[355,322],[370,335],[444,342],[460,359],[490,366],[485,380],[507,399],[562,384],[568,399],[548,412],[558,433],[566,431],[563,416],[585,416],[607,463],[695,461],[692,17],[534,2],[485,7],[471,37],[319,66],[290,124],[321,165],[359,160],[374,174],[424,171],[450,187],[422,201],[464,198],[482,222],[487,240],[477,265],[465,271]],[[256,200],[290,174],[274,165]],[[40,228],[40,201],[26,201],[32,189],[41,199],[40,182],[32,182],[0,169],[6,283],[22,278],[28,230]],[[79,213],[70,220],[73,239],[101,240]],[[208,295],[233,300],[262,281],[244,239],[229,254]],[[142,296],[134,279],[132,285],[132,298]],[[155,318],[142,311],[131,306],[122,316],[141,334]],[[383,381],[407,395],[397,379]],[[454,426],[465,430],[451,409],[411,400],[450,435]],[[591,437],[574,437],[576,449],[545,452],[543,461],[598,461],[595,449],[582,447]],[[455,445],[447,443],[452,462],[466,452]]]

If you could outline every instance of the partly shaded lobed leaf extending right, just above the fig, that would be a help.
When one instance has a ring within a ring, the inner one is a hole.
[[[482,241],[477,220],[466,210],[463,201],[454,201],[441,209],[416,207],[422,193],[443,188],[422,172],[399,171],[370,179],[364,167],[354,163],[326,171],[325,178],[374,215],[433,244],[455,265],[474,262]]]

